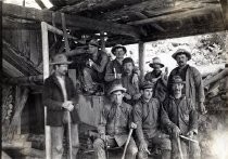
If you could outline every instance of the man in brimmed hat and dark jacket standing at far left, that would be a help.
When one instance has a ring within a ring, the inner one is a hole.
[[[71,62],[64,54],[56,54],[50,64],[54,71],[45,81],[42,98],[47,106],[47,124],[51,128],[51,158],[62,159],[64,125],[68,122],[72,129],[72,155],[76,158],[79,146],[78,115],[73,100],[75,88],[72,79],[66,76]],[[71,112],[69,118],[67,111]]]

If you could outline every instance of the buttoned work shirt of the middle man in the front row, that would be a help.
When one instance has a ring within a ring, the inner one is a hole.
[[[138,140],[154,137],[162,124],[169,125],[170,121],[162,105],[156,98],[151,98],[148,103],[142,98],[134,106],[134,122],[137,123]]]

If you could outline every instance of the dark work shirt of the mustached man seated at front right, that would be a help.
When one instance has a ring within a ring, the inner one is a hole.
[[[180,129],[181,134],[186,135],[191,130],[198,133],[198,112],[190,98],[182,96],[176,100],[169,95],[164,101],[164,109],[170,121]]]

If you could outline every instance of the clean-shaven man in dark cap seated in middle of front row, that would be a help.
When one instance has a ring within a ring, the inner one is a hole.
[[[162,150],[162,159],[170,159],[169,136],[161,132],[161,127],[170,127],[172,123],[159,100],[152,97],[153,87],[151,82],[140,87],[142,96],[132,110],[134,122],[137,124],[138,158],[147,159],[149,147],[156,145]]]

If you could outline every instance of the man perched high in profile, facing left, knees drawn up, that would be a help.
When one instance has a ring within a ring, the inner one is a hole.
[[[88,43],[88,52],[92,55],[87,62],[87,67],[84,68],[84,90],[87,93],[94,93],[97,91],[97,82],[102,82],[105,74],[105,67],[109,57],[105,52],[99,50],[98,41],[94,39]]]

